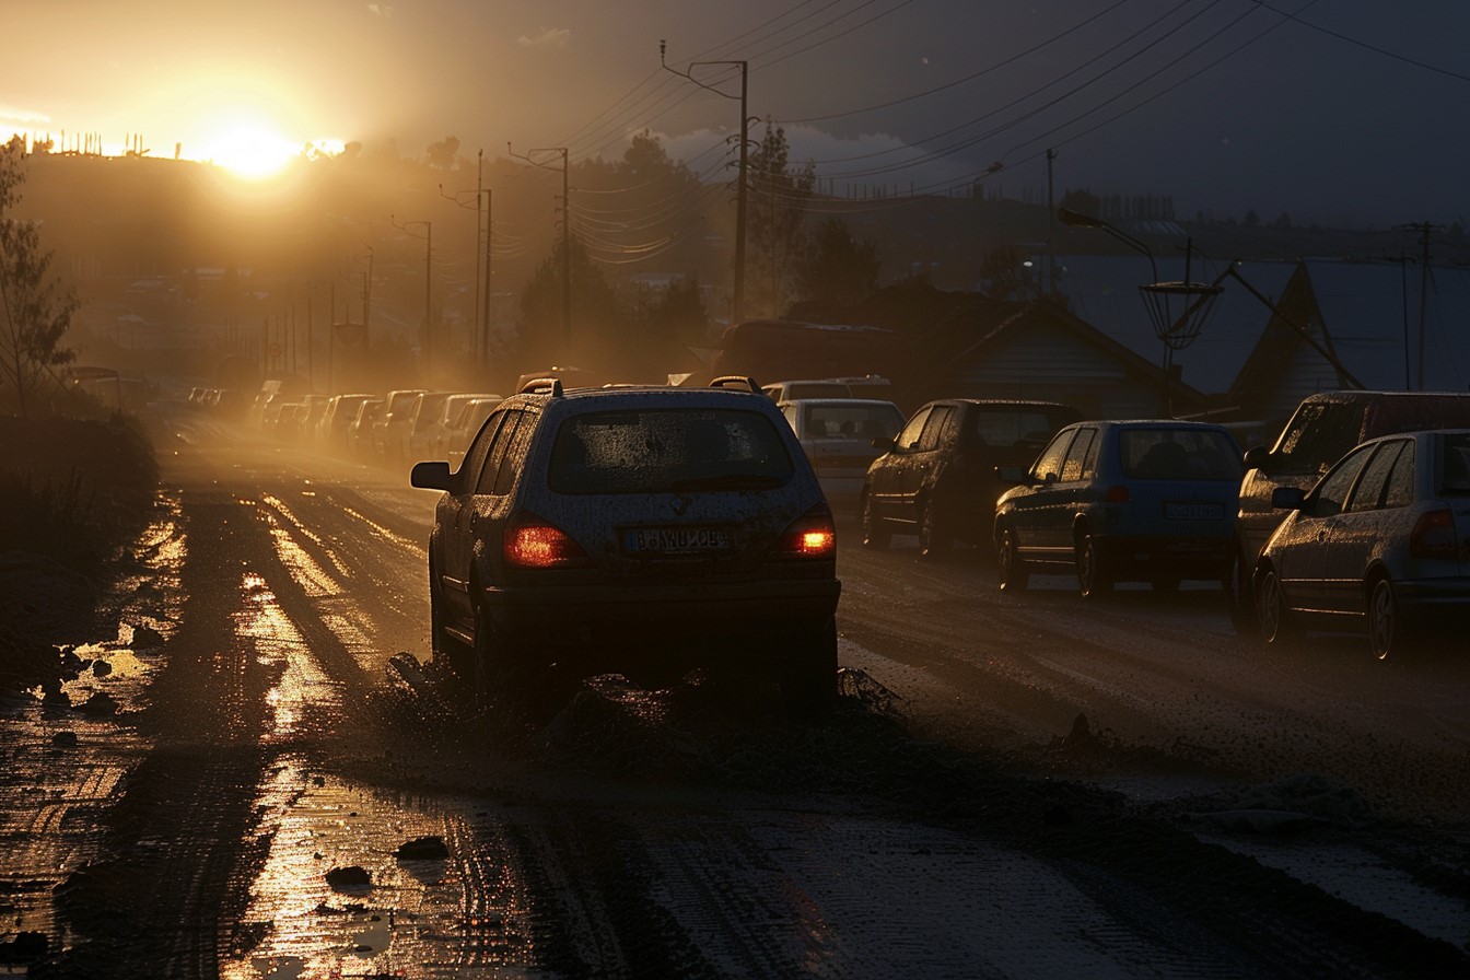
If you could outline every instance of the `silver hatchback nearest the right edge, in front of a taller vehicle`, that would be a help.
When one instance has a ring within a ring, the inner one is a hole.
[[[1470,429],[1370,439],[1272,501],[1286,517],[1254,574],[1266,642],[1358,629],[1386,658],[1417,626],[1470,623]]]

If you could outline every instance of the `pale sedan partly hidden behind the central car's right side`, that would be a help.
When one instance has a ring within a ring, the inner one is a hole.
[[[797,398],[778,407],[797,433],[828,501],[856,514],[867,467],[881,454],[873,442],[898,435],[904,413],[878,398]]]

